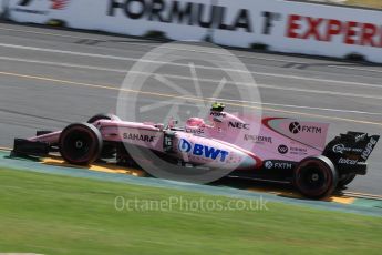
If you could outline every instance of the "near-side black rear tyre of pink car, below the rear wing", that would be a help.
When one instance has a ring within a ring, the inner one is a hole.
[[[323,198],[335,190],[338,172],[328,157],[310,156],[303,159],[295,169],[293,184],[306,197]]]

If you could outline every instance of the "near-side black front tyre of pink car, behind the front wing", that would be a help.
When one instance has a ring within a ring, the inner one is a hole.
[[[96,161],[102,150],[100,131],[89,123],[74,123],[66,126],[60,135],[61,156],[75,165],[89,165]]]

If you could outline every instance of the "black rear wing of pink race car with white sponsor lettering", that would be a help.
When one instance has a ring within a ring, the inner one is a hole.
[[[330,141],[322,154],[328,156],[342,174],[365,174],[365,162],[379,140],[380,135],[348,132]]]

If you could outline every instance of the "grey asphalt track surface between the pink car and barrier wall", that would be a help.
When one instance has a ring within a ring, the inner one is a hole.
[[[127,71],[161,44],[136,38],[0,23],[0,146],[9,147],[13,137],[32,136],[38,129],[59,130],[86,121],[95,113],[116,112]],[[224,74],[208,62],[214,59],[208,51],[180,50],[177,54],[185,54],[185,61],[161,63],[158,75],[140,73],[147,78],[144,86],[124,95],[138,106],[136,120],[162,122],[169,109],[185,120],[198,113],[200,103],[209,104],[202,98],[225,99],[227,111],[241,105],[254,110],[260,106],[260,102],[242,102],[239,93],[252,89],[250,84],[235,86],[227,81],[220,93],[214,95]],[[256,80],[265,115],[328,122],[328,140],[345,131],[382,133],[382,67],[229,51]],[[195,55],[204,59],[187,60]],[[202,96],[195,89],[193,70],[199,79]],[[381,144],[369,163],[368,175],[357,177],[348,191],[382,195]]]

